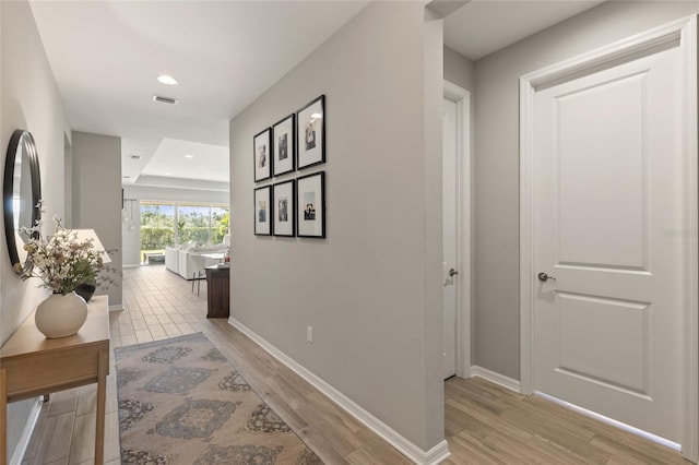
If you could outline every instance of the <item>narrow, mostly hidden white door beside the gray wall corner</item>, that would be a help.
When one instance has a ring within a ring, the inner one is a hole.
[[[445,379],[457,373],[457,104],[443,99],[442,130],[442,305]],[[453,271],[452,271],[453,270]],[[451,271],[451,273],[450,273]]]

